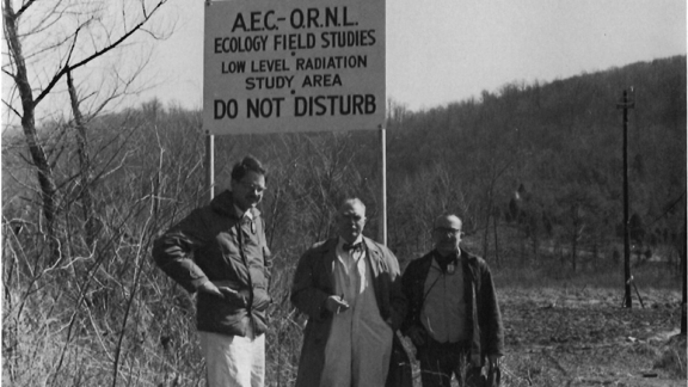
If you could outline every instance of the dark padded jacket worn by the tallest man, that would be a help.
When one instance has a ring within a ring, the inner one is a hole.
[[[239,293],[233,299],[200,292],[196,322],[199,331],[246,336],[267,329],[270,304],[270,251],[260,211],[240,218],[232,193],[224,191],[209,205],[192,211],[153,244],[160,269],[189,293],[210,280]]]

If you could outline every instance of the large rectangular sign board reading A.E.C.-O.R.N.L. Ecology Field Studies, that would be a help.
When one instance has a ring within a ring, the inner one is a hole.
[[[211,134],[378,129],[385,1],[207,2],[203,95]]]

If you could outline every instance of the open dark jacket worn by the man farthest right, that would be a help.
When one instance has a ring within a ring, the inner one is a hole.
[[[409,263],[402,277],[402,289],[409,300],[409,313],[402,326],[406,333],[411,326],[422,328],[420,313],[424,303],[425,280],[435,251]],[[469,328],[471,363],[482,366],[486,355],[504,355],[504,327],[499,313],[492,274],[482,258],[461,250],[464,273],[466,324]]]

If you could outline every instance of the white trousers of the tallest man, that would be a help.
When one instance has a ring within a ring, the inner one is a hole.
[[[264,387],[265,335],[199,332],[208,387]]]

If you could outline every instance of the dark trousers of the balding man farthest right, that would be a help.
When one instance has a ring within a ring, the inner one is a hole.
[[[423,387],[451,387],[452,375],[455,375],[459,386],[475,386],[473,379],[480,377],[480,368],[474,369],[469,364],[469,351],[467,342],[440,343],[429,339],[426,346],[418,348]],[[464,370],[468,370],[466,375]]]

